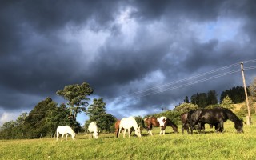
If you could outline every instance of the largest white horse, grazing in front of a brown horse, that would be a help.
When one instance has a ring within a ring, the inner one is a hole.
[[[122,131],[122,128],[123,128],[124,129],[124,131],[123,131],[123,138],[126,137],[126,130],[128,130],[128,135],[129,135],[129,138],[130,138],[130,129],[132,127],[134,127],[135,134],[138,137],[142,137],[140,127],[138,126],[138,124],[135,121],[134,117],[122,118],[121,119],[120,124],[119,124],[119,134],[118,134],[118,136],[120,135],[120,133]]]

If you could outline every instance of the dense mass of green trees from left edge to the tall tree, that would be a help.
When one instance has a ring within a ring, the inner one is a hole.
[[[82,130],[79,122],[67,119],[69,110],[64,104],[57,106],[51,98],[46,98],[30,111],[30,114],[22,113],[17,120],[6,122],[0,132],[1,138],[40,138],[54,136],[58,126],[72,126],[74,131]]]

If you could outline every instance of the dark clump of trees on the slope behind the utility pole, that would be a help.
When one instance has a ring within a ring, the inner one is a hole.
[[[250,96],[249,88],[247,88],[247,94]],[[226,98],[226,96],[229,96],[232,102],[234,104],[237,103],[242,103],[243,101],[246,100],[246,95],[245,95],[245,90],[243,86],[235,86],[233,88],[230,88],[230,90],[225,90],[222,92],[221,97],[220,97],[220,102],[222,103],[223,99]]]

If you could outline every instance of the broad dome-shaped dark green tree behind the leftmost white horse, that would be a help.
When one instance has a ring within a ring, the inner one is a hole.
[[[22,131],[25,138],[53,136],[58,126],[72,126],[75,132],[82,130],[79,122],[68,120],[69,110],[64,104],[58,106],[51,98],[39,102],[26,117]]]

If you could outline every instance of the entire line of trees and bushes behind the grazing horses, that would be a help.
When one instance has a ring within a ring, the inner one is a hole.
[[[251,102],[255,102],[254,98],[256,78],[254,82],[248,87],[253,95]],[[81,85],[74,84],[65,86],[63,90],[58,90],[56,94],[65,98],[68,102],[58,105],[52,98],[48,97],[42,102],[38,102],[30,113],[22,113],[15,121],[5,122],[0,129],[1,139],[14,138],[41,138],[54,137],[55,130],[58,126],[68,125],[73,128],[76,133],[86,131],[90,122],[97,122],[99,130],[102,132],[114,132],[114,122],[116,118],[112,114],[106,113],[106,103],[103,98],[95,98],[90,104],[88,98],[93,94],[94,90],[86,82]],[[174,107],[174,110],[165,110],[162,113],[146,115],[148,116],[166,116],[174,123],[180,124],[180,114],[183,112],[194,110],[198,108],[212,108],[222,106],[232,109],[234,103],[240,103],[245,100],[244,90],[242,86],[236,86],[225,90],[220,96],[220,102],[215,90],[210,90],[207,93],[193,94],[189,98],[186,96],[182,104]],[[254,107],[251,109],[253,113]],[[89,120],[85,122],[85,126],[77,121],[77,114],[85,112],[89,116]],[[242,108],[239,115],[246,114],[246,107]],[[143,118],[135,117],[139,126],[143,126]]]

